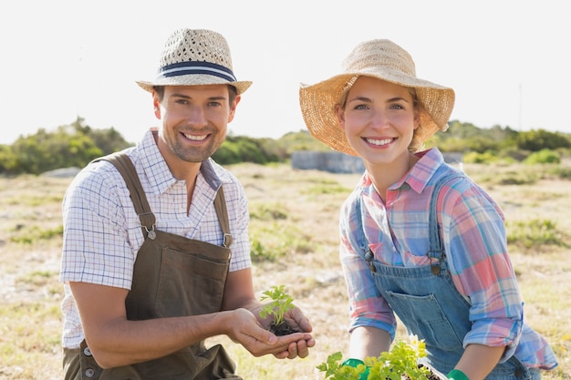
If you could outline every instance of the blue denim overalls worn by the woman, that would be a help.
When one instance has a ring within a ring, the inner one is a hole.
[[[424,363],[448,374],[463,353],[462,342],[470,331],[470,303],[452,282],[446,255],[443,252],[436,200],[441,186],[462,174],[452,173],[441,178],[434,188],[429,215],[430,250],[435,259],[422,267],[395,267],[374,262],[370,250],[365,254],[379,293],[387,300],[408,334],[416,334],[426,343],[428,356]],[[498,364],[486,380],[531,380],[541,378],[539,370],[530,370],[512,356]]]

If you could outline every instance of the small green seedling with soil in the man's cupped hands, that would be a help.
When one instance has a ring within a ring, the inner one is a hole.
[[[293,333],[294,331],[285,321],[284,315],[295,307],[294,299],[291,295],[285,293],[284,285],[274,285],[263,294],[261,301],[272,300],[270,303],[266,303],[260,311],[262,319],[273,316],[273,321],[269,326],[270,331],[282,335]]]

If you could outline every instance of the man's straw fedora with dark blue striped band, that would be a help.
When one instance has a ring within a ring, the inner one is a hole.
[[[154,86],[232,85],[242,94],[252,82],[234,76],[226,39],[206,29],[178,29],[165,43],[157,76],[137,81],[147,91]]]

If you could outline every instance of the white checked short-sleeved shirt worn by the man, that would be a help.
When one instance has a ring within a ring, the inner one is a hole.
[[[151,130],[137,147],[126,151],[155,214],[157,230],[222,245],[223,232],[213,200],[223,184],[233,235],[230,271],[251,266],[247,199],[243,187],[230,172],[212,159],[205,160],[187,215],[186,182],[172,176]],[[125,181],[107,161],[88,165],[73,180],[63,201],[63,218],[60,272],[60,281],[65,282],[63,344],[76,348],[84,334],[67,282],[130,289],[133,265],[144,237]]]

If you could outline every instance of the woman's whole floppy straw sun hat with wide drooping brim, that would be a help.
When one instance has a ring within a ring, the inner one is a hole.
[[[360,43],[345,59],[343,71],[315,85],[301,84],[299,88],[299,104],[307,129],[329,147],[358,156],[339,124],[335,107],[360,76],[416,89],[421,107],[420,125],[415,135],[421,142],[436,131],[448,128],[454,107],[454,90],[416,77],[412,57],[392,41],[374,39]]]

